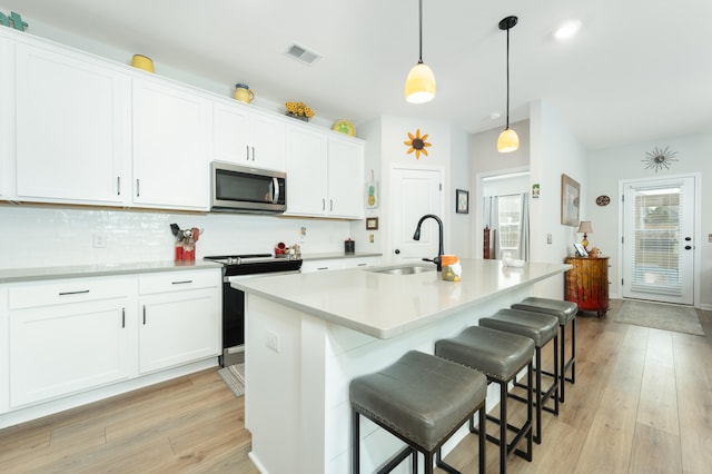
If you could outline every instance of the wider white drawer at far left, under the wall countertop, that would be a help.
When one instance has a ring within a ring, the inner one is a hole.
[[[131,278],[69,278],[8,289],[10,309],[69,303],[123,298],[131,289]]]

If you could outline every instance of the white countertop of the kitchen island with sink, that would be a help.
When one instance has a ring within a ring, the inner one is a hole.
[[[503,267],[500,260],[461,263],[461,282],[445,282],[437,271],[387,275],[373,271],[382,267],[369,267],[261,276],[233,282],[233,286],[387,339],[571,269],[566,264],[528,263],[523,268],[512,268]]]

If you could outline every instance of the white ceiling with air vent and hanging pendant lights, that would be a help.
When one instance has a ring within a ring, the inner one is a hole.
[[[1,10],[206,79],[246,82],[275,102],[301,100],[354,124],[383,115],[504,126],[506,33],[512,121],[544,99],[590,149],[712,129],[710,0],[423,0],[423,59],[437,95],[406,103],[418,59],[417,0],[0,0]],[[552,32],[583,21],[568,42]],[[284,55],[297,42],[323,58]],[[500,112],[498,119],[492,119]]]

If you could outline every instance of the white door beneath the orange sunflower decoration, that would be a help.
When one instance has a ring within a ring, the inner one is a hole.
[[[434,214],[443,220],[443,171],[436,169],[394,168],[390,171],[393,218],[393,251],[395,260],[419,260],[437,256],[439,229],[434,219],[426,219],[421,239],[413,234],[418,220]]]

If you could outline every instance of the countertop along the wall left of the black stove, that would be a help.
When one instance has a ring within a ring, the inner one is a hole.
[[[128,275],[152,271],[198,270],[221,268],[208,260],[195,261],[136,261],[127,264],[70,265],[59,267],[0,269],[0,283],[34,282],[56,278],[83,278],[92,276]]]

